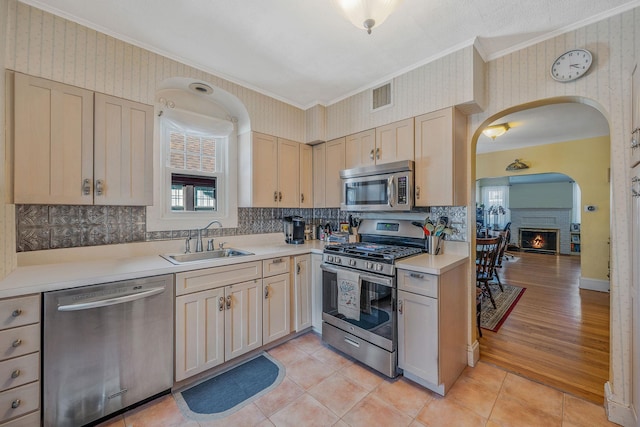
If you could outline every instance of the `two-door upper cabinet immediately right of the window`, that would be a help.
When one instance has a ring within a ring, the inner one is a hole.
[[[241,206],[300,207],[300,145],[258,132],[253,132],[250,139],[241,141]]]

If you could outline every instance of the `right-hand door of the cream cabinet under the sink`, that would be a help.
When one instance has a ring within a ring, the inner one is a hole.
[[[262,280],[225,287],[225,360],[262,346]]]

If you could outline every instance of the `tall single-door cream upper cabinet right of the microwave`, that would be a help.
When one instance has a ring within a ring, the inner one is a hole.
[[[415,205],[462,206],[467,198],[466,117],[457,109],[415,118]]]

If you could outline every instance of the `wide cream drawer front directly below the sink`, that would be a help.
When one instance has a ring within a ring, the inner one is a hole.
[[[262,277],[262,261],[205,268],[176,274],[176,295],[206,291]]]

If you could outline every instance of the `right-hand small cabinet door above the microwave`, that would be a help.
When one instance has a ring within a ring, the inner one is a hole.
[[[376,164],[413,160],[413,117],[376,128]]]

